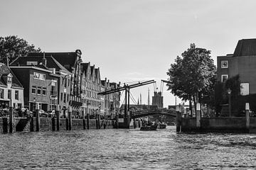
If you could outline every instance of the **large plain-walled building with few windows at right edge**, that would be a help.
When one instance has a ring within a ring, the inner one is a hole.
[[[245,102],[250,103],[252,111],[256,111],[256,39],[238,41],[233,54],[217,57],[217,78],[220,82],[239,75],[240,96],[232,108],[245,110]],[[232,93],[232,91],[231,91]]]

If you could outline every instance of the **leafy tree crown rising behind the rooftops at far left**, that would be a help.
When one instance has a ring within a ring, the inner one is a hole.
[[[25,56],[28,52],[41,52],[41,48],[29,45],[26,40],[15,35],[0,37],[0,62],[9,64],[19,56]],[[7,63],[8,61],[8,63]]]

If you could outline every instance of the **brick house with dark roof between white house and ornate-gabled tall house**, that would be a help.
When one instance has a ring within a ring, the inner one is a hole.
[[[26,106],[33,110],[35,103],[44,111],[53,111],[57,104],[68,108],[71,73],[51,56],[18,57],[10,64],[24,84]]]

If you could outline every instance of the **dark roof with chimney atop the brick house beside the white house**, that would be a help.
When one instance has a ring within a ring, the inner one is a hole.
[[[43,64],[39,64],[40,62],[43,62],[43,56],[38,56],[38,57],[18,57],[14,62],[12,62],[10,65],[11,66],[26,66],[27,62],[38,62],[37,67],[41,67],[43,69],[49,69],[49,68],[55,68],[55,70],[58,72],[62,70],[63,72],[70,73],[68,69],[65,69],[57,60],[55,60],[51,56],[46,56],[46,67],[43,66]]]

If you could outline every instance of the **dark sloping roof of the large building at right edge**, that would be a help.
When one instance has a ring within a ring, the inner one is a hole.
[[[256,38],[239,40],[233,57],[252,55],[256,56]]]

